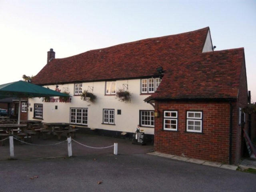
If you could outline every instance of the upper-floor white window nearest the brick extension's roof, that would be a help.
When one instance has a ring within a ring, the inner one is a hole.
[[[160,78],[148,78],[141,80],[141,93],[154,93],[161,82]]]

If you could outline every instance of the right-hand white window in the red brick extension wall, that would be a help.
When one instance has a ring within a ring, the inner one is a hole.
[[[187,132],[202,133],[202,111],[187,111]]]

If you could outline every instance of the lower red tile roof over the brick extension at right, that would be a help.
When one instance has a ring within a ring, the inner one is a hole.
[[[237,98],[244,48],[206,52],[170,64],[157,91],[145,99]]]

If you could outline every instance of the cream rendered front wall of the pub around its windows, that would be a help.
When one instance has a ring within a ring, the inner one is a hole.
[[[43,104],[43,122],[68,122],[70,123],[70,107],[88,108],[88,127],[105,130],[118,130],[122,132],[134,132],[139,124],[139,110],[154,110],[154,108],[144,102],[144,99],[150,95],[140,95],[140,79],[136,80],[118,80],[116,81],[116,90],[123,88],[122,84],[128,84],[128,91],[132,94],[131,102],[124,103],[116,99],[116,96],[106,96],[105,81],[104,82],[88,82],[83,83],[83,90],[90,90],[88,86],[93,87],[92,93],[97,98],[94,103],[86,102],[80,99],[80,96],[74,96],[74,84],[59,85],[58,89],[63,91],[63,88],[68,88],[68,92],[72,96],[70,103],[62,102],[42,102],[41,98],[30,98],[29,120],[33,120],[34,103]],[[47,87],[47,86],[45,86]],[[48,86],[54,90],[56,85]],[[90,90],[91,92],[91,90]],[[58,97],[55,97],[58,98]],[[55,110],[55,106],[58,109]],[[102,124],[103,109],[115,110],[115,125]],[[121,115],[117,114],[117,110],[121,110]],[[145,134],[154,134],[154,128],[141,128]]]

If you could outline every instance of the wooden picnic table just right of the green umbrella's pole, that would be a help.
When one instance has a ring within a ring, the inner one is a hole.
[[[70,123],[44,123],[44,126],[45,130],[42,130],[41,132],[56,135],[58,140],[60,140],[62,135],[69,136],[76,132],[76,129],[72,129],[72,127],[70,127]]]

